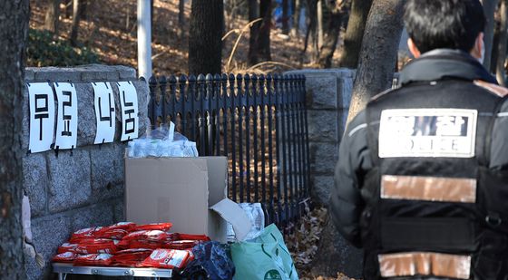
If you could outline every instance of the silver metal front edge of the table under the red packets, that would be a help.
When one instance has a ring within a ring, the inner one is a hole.
[[[153,279],[171,279],[171,269],[150,267],[119,267],[119,266],[73,266],[72,264],[54,263],[54,273],[58,280],[65,280],[67,275],[104,275],[104,276],[134,276],[151,277]]]

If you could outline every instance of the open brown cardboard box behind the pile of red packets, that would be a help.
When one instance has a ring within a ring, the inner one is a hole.
[[[127,221],[171,222],[171,232],[226,242],[226,221],[210,210],[226,198],[226,191],[225,157],[125,158]],[[233,216],[235,211],[226,210]]]

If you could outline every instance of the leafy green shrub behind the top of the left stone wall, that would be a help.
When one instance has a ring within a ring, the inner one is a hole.
[[[27,66],[73,66],[99,62],[97,54],[87,47],[73,47],[67,41],[54,39],[48,31],[32,28],[28,31]]]

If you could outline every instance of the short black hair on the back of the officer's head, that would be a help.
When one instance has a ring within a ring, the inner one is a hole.
[[[404,23],[420,53],[440,48],[469,53],[484,32],[485,15],[479,0],[407,0]]]

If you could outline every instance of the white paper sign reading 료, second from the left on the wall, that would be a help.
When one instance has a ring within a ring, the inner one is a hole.
[[[78,140],[78,100],[76,89],[72,83],[55,82],[54,92],[56,92],[56,99],[58,100],[54,149],[75,149]]]

